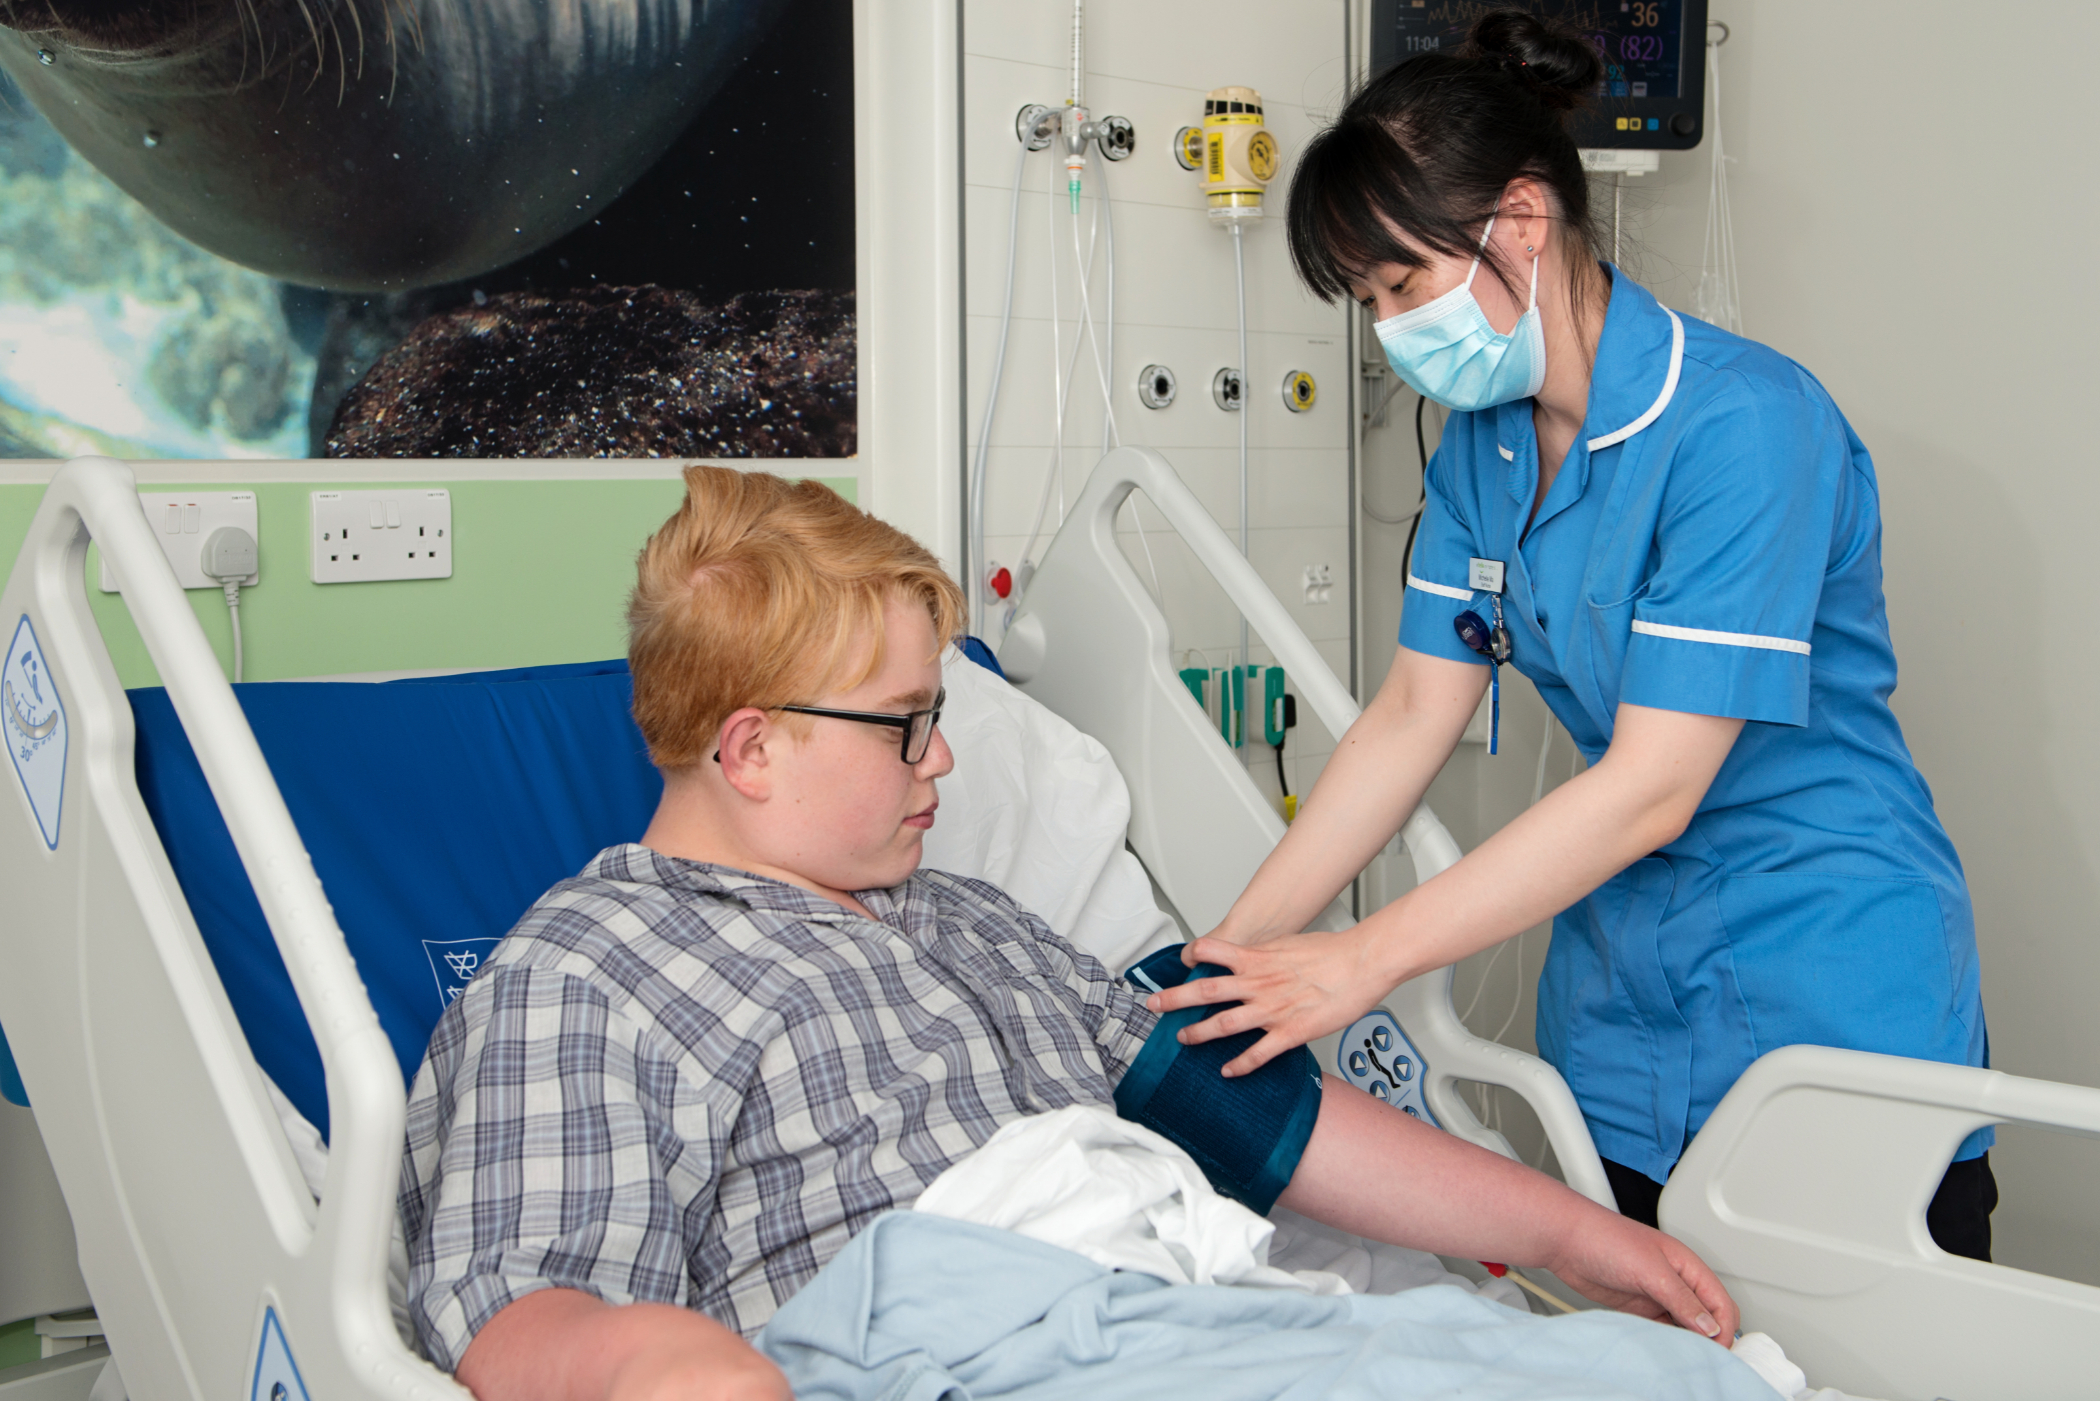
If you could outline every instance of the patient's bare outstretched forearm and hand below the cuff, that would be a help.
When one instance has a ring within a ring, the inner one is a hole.
[[[1735,1300],[1680,1241],[1334,1075],[1277,1204],[1394,1246],[1541,1264],[1611,1309],[1735,1338]]]

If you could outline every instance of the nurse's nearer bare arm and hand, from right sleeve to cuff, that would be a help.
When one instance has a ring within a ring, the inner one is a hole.
[[[1611,748],[1592,769],[1445,874],[1344,933],[1300,933],[1260,947],[1197,939],[1186,958],[1224,964],[1231,977],[1170,987],[1147,1006],[1239,1002],[1180,1033],[1193,1046],[1266,1027],[1268,1036],[1226,1063],[1226,1075],[1340,1031],[1407,979],[1525,933],[1674,842],[1741,731],[1743,720],[1619,706]]]

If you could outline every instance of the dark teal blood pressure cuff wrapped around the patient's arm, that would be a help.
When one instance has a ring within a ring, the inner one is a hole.
[[[1124,977],[1142,994],[1231,973],[1218,964],[1189,968],[1180,947],[1159,949]],[[1176,1033],[1239,1006],[1220,1002],[1168,1012],[1144,1040],[1138,1059],[1115,1086],[1115,1111],[1163,1134],[1189,1153],[1222,1195],[1262,1216],[1298,1172],[1319,1120],[1319,1061],[1304,1046],[1254,1071],[1226,1080],[1224,1063],[1262,1040],[1260,1031],[1182,1046]]]

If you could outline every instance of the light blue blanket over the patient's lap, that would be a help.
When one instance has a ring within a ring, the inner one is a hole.
[[[1537,1319],[1449,1285],[1168,1285],[918,1212],[878,1218],[758,1346],[800,1401],[1777,1397],[1705,1338],[1617,1313]]]

